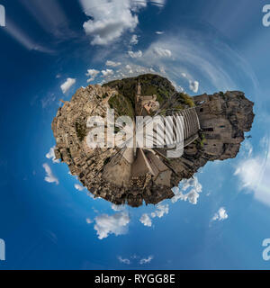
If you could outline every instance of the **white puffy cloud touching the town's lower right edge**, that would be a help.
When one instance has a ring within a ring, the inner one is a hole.
[[[192,204],[197,204],[200,193],[202,193],[202,184],[199,183],[197,177],[190,179],[184,179],[181,183],[182,189],[174,187],[173,192],[175,196],[172,198],[172,202],[175,203],[178,200],[188,201]],[[187,193],[183,193],[188,191]]]

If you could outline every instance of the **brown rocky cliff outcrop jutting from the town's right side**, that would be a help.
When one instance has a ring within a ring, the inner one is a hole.
[[[194,96],[193,101],[201,125],[200,140],[184,148],[182,157],[171,161],[176,172],[172,185],[191,177],[208,161],[236,157],[244,132],[251,130],[255,117],[254,103],[242,92],[202,94]]]

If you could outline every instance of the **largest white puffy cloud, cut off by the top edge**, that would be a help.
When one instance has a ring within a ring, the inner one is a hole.
[[[91,17],[84,23],[85,33],[93,37],[92,45],[107,45],[125,31],[134,31],[139,24],[139,9],[147,1],[131,0],[80,0],[84,12]]]

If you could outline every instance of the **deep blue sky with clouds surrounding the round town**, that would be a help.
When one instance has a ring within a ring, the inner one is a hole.
[[[270,268],[267,1],[0,4],[0,269]],[[192,95],[245,92],[252,139],[180,184],[173,202],[115,211],[54,163],[50,123],[80,86],[147,72]]]

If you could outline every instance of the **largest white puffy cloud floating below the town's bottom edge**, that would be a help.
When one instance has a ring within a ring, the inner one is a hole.
[[[116,236],[125,234],[130,223],[130,216],[126,211],[116,213],[112,216],[103,214],[95,217],[94,229],[99,239],[107,238],[109,234]]]

